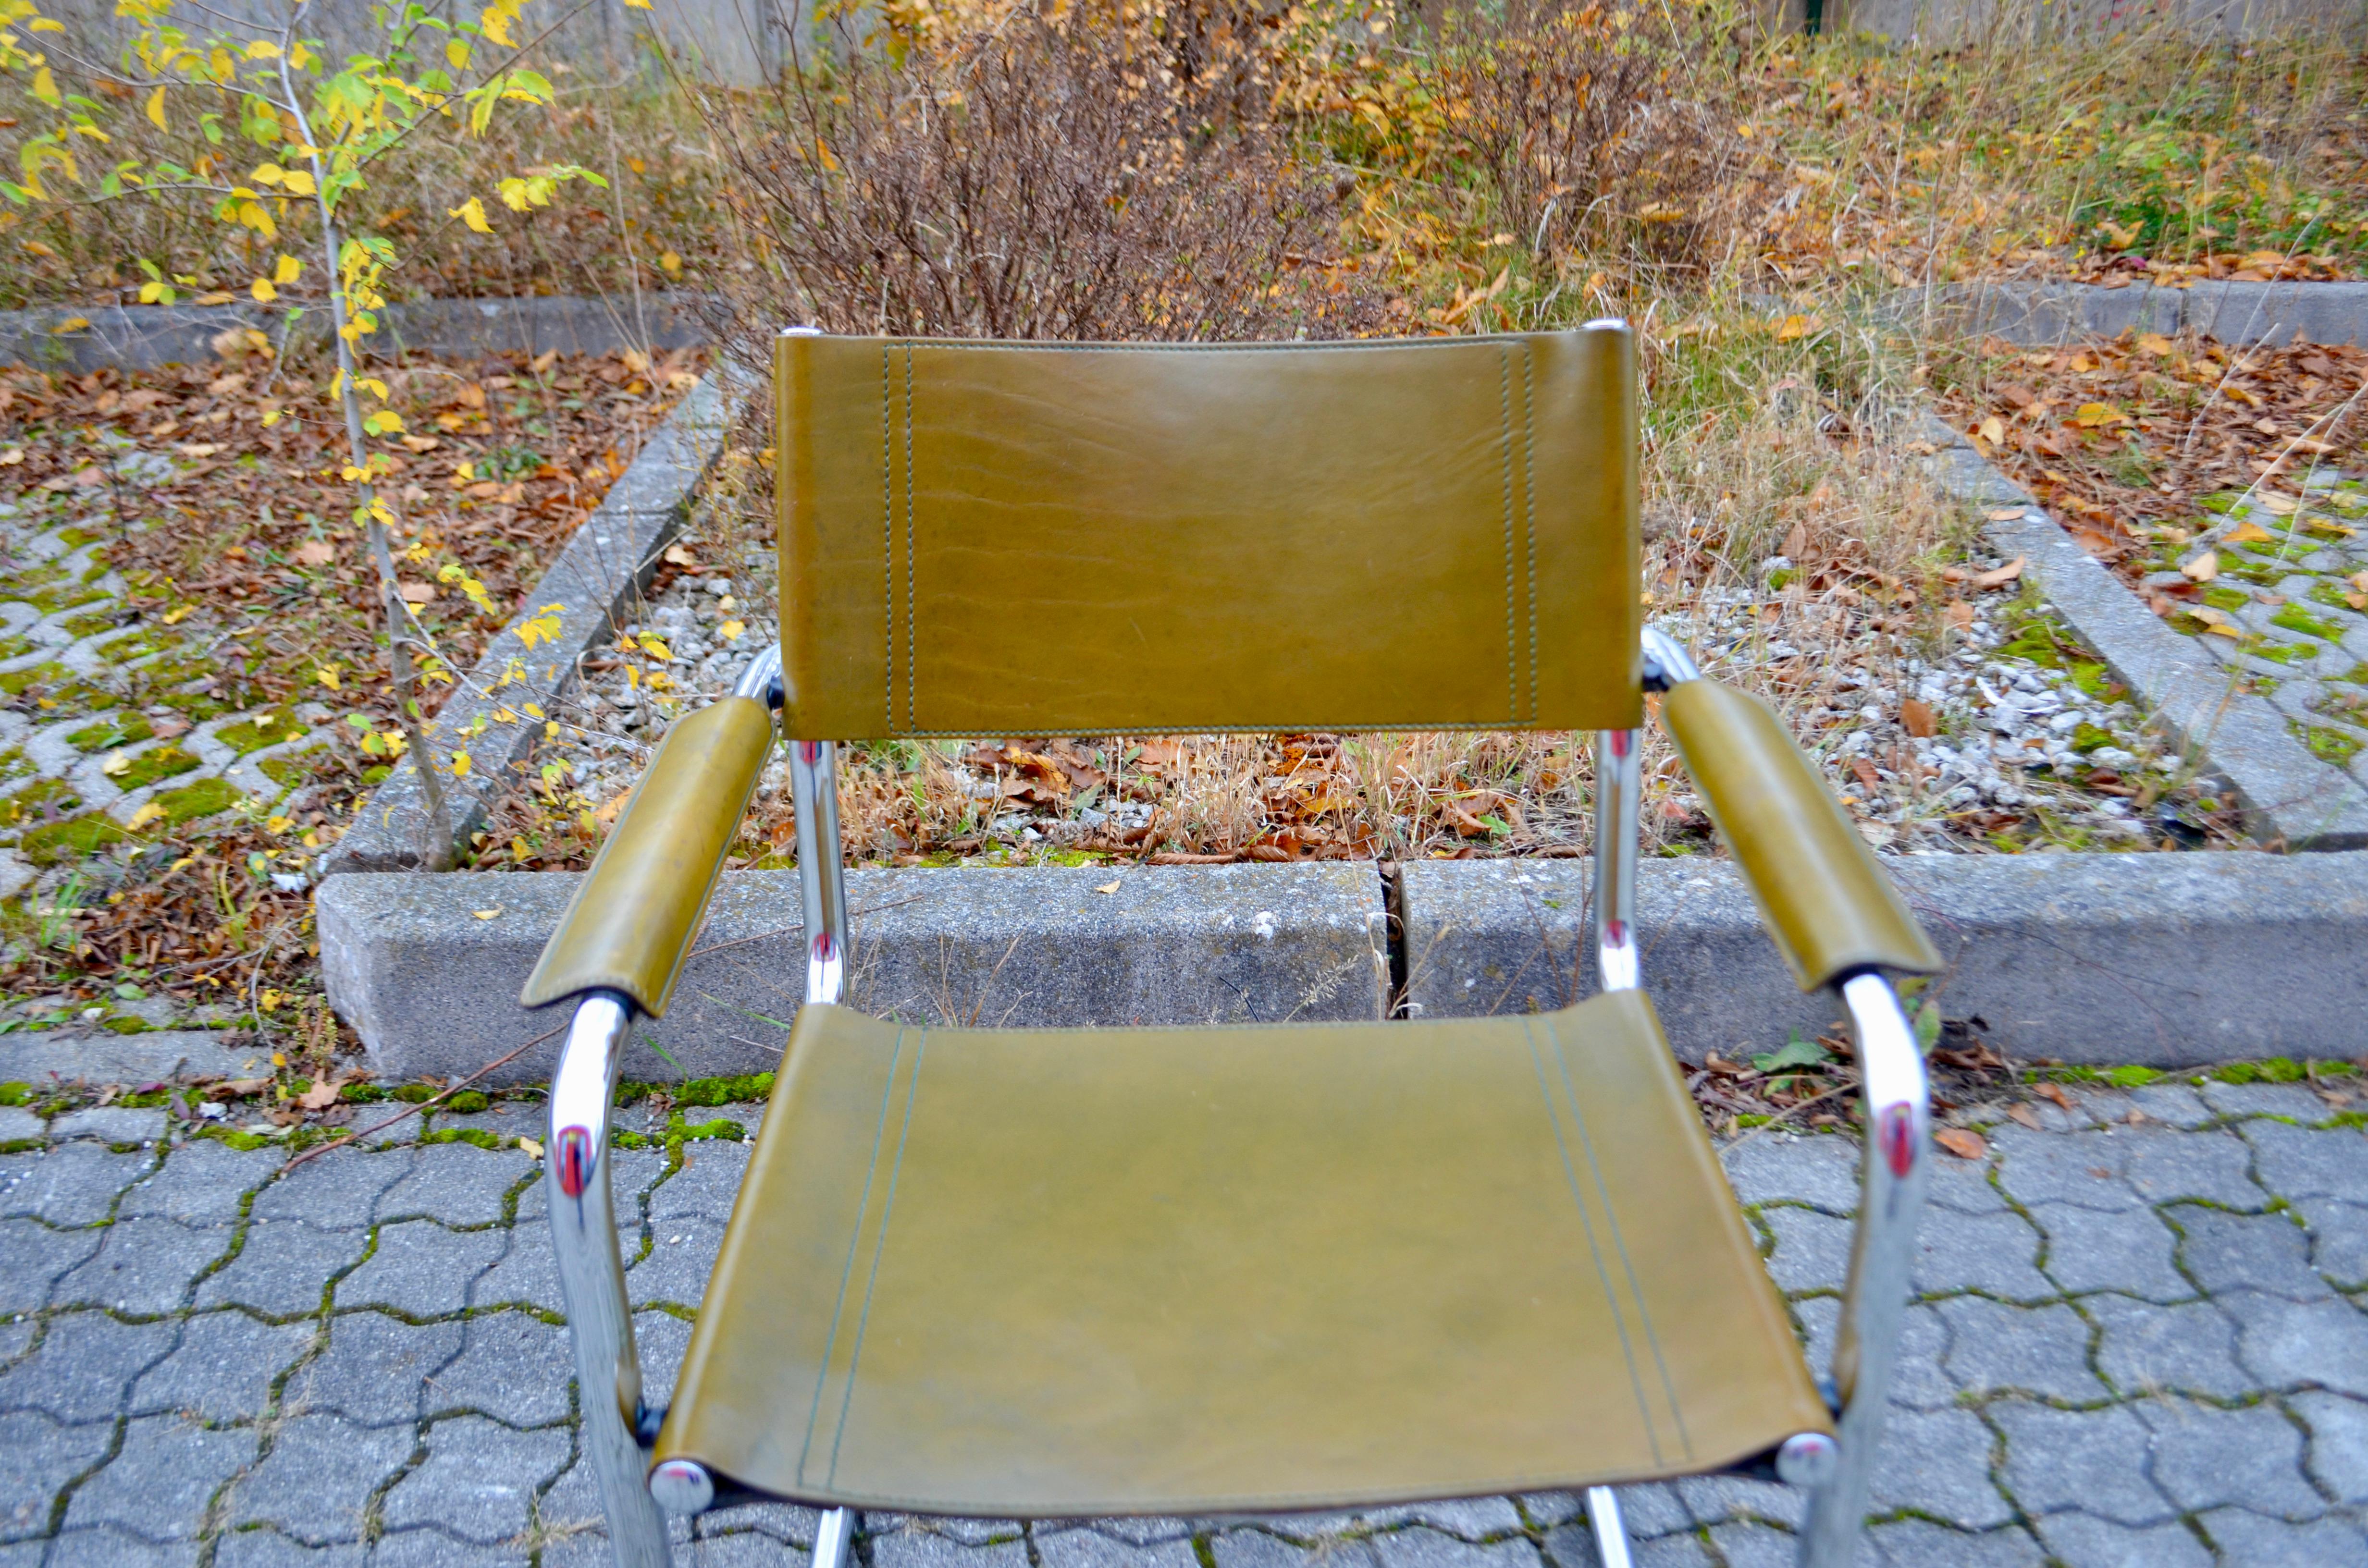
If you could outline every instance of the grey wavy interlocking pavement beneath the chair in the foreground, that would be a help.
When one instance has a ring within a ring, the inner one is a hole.
[[[1866,1561],[2368,1563],[2368,1137],[2299,1085],[2081,1106],[1939,1161]],[[282,1177],[277,1149],[159,1146],[161,1111],[47,1127],[0,1111],[17,1149],[0,1156],[0,1568],[606,1561],[538,1168],[516,1146],[538,1123],[511,1101]],[[658,1397],[746,1161],[703,1130],[620,1153]],[[1769,1135],[1726,1163],[1821,1357],[1852,1144]],[[1624,1506],[1641,1563],[1790,1561],[1785,1487],[1686,1480]],[[812,1525],[718,1511],[684,1559],[796,1563]],[[869,1568],[1594,1563],[1563,1495],[1224,1523],[874,1514],[860,1551]]]

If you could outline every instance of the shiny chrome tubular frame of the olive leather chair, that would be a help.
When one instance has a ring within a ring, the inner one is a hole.
[[[1703,680],[1686,651],[1653,628],[1643,628],[1641,673],[1646,692],[1662,694]],[[767,713],[779,713],[784,706],[781,651],[758,654],[736,682],[734,696],[755,699],[765,703]],[[748,708],[753,706],[744,703],[744,711]],[[774,727],[767,718],[760,741],[744,734],[734,744],[770,748]],[[805,910],[805,1000],[836,1004],[848,983],[852,936],[838,838],[838,748],[826,739],[789,739],[786,746],[796,805],[798,888]],[[1608,992],[1641,985],[1636,931],[1639,758],[1641,730],[1598,732],[1591,926],[1596,971]],[[736,822],[736,815],[732,820]],[[1842,831],[1847,834],[1847,829]],[[725,843],[713,846],[713,865],[720,865]],[[597,895],[597,888],[587,886],[587,893]],[[694,888],[694,893],[703,905],[706,888]],[[1764,900],[1769,898],[1767,888],[1759,893]],[[1776,928],[1781,921],[1774,905],[1769,905],[1769,917],[1771,928]],[[696,926],[696,905],[691,926]],[[1920,943],[1920,936],[1916,940]],[[689,933],[682,936],[682,943],[687,947]],[[1790,950],[1788,957],[1793,957]],[[680,952],[673,959],[680,966]],[[1804,1568],[1845,1568],[1857,1547],[1909,1298],[1916,1220],[1930,1158],[1930,1092],[1923,1054],[1897,992],[1875,966],[1878,962],[1899,964],[1902,959],[1828,964],[1823,973],[1812,973],[1795,962],[1804,985],[1823,978],[1849,1014],[1859,1049],[1866,1130],[1859,1217],[1833,1374],[1821,1386],[1835,1414],[1835,1431],[1830,1435],[1802,1431],[1759,1461],[1762,1473],[1771,1471],[1774,1478],[1807,1487],[1812,1495],[1800,1530],[1800,1563]],[[670,985],[670,971],[663,983]],[[654,1002],[663,1009],[663,995]],[[741,1495],[732,1492],[729,1485],[720,1487],[718,1478],[691,1459],[654,1464],[665,1409],[644,1397],[611,1196],[613,1137],[609,1113],[623,1045],[637,1011],[642,1011],[639,1004],[623,990],[594,988],[575,995],[573,1021],[559,1071],[552,1078],[545,1189],[575,1355],[583,1454],[601,1497],[609,1540],[623,1568],[665,1568],[670,1563],[668,1514],[699,1514],[736,1502]],[[1629,1544],[1613,1487],[1589,1487],[1587,1509],[1603,1563],[1627,1568]],[[850,1509],[824,1509],[812,1568],[848,1568],[852,1530]]]

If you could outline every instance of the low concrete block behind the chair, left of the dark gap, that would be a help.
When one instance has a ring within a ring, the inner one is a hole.
[[[471,1073],[564,1009],[519,1007],[578,874],[332,876],[322,973],[388,1078]],[[1099,893],[1108,883],[1115,893]],[[1369,865],[850,872],[848,1000],[933,1023],[1281,1023],[1378,1018],[1388,985]],[[500,910],[476,919],[478,910]],[[805,990],[796,872],[727,872],[663,1021],[635,1028],[630,1078],[772,1071]],[[490,1082],[549,1078],[559,1042]]]

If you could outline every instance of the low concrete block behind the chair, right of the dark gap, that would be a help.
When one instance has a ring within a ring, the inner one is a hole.
[[[1932,997],[2015,1056],[2198,1066],[2368,1049],[2368,855],[1902,855],[1885,860],[1949,959]],[[1587,865],[1399,872],[1407,995],[1430,1016],[1594,990]],[[327,919],[324,919],[327,926]],[[1804,997],[1733,862],[1646,860],[1643,983],[1686,1061],[1840,1018]]]

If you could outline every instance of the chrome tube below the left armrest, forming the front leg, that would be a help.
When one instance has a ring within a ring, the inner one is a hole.
[[[632,1348],[632,1307],[609,1189],[609,1104],[630,1023],[632,1002],[616,992],[594,990],[575,1004],[552,1078],[552,1146],[542,1189],[552,1210],[559,1298],[575,1345],[583,1454],[609,1516],[609,1544],[618,1568],[668,1568],[665,1518],[644,1480],[644,1428],[654,1440],[656,1421],[642,1405],[642,1362]]]

